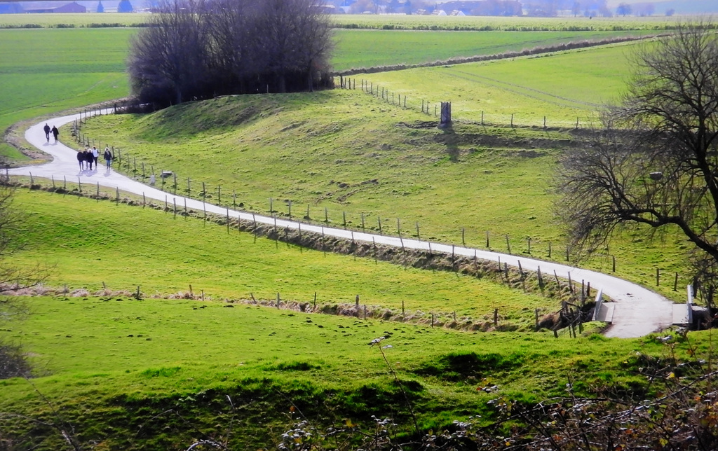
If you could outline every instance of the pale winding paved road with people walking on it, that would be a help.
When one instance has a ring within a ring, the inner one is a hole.
[[[78,117],[78,115],[67,115],[47,120],[47,123],[60,127],[60,125],[70,123]],[[45,133],[42,130],[44,125],[45,121],[30,127],[25,132],[25,138],[33,146],[45,151],[46,153],[50,153],[50,155],[54,157],[54,160],[40,166],[13,168],[9,171],[9,174],[18,176],[27,176],[32,174],[32,176],[44,177],[47,179],[54,176],[56,181],[65,177],[68,181],[75,182],[80,180],[89,185],[100,184],[110,188],[118,188],[123,191],[129,191],[134,194],[144,194],[146,197],[159,201],[167,201],[169,204],[176,202],[177,205],[184,206],[186,201],[187,208],[201,210],[204,206],[208,212],[221,215],[229,214],[229,216],[233,218],[238,217],[245,220],[256,219],[257,222],[264,224],[274,224],[276,221],[277,227],[289,227],[290,229],[298,229],[301,227],[305,232],[324,233],[333,237],[346,239],[353,238],[365,242],[376,241],[382,245],[395,247],[404,245],[404,247],[413,249],[429,250],[428,242],[416,239],[405,238],[402,243],[402,240],[398,237],[352,232],[344,229],[332,229],[330,227],[304,223],[300,226],[299,222],[259,215],[253,216],[252,214],[246,212],[238,212],[231,209],[228,210],[221,206],[204,204],[202,201],[197,201],[195,199],[185,199],[185,197],[182,196],[174,196],[173,194],[169,194],[165,191],[141,184],[139,181],[129,179],[128,177],[118,174],[115,171],[107,172],[104,168],[104,161],[102,161],[102,149],[99,149],[101,160],[99,161],[100,170],[95,172],[81,172],[78,168],[76,151],[74,149],[63,145],[62,143],[47,143],[45,141]],[[450,253],[452,252],[452,246],[432,242],[431,250]],[[551,274],[556,271],[556,274],[564,279],[567,279],[570,274],[572,280],[585,280],[587,283],[591,283],[592,288],[602,289],[605,295],[615,301],[613,323],[605,332],[605,336],[608,337],[632,338],[645,336],[648,333],[671,326],[671,323],[673,322],[673,304],[669,300],[666,300],[666,298],[663,298],[663,296],[658,293],[654,293],[653,291],[643,288],[640,285],[630,283],[618,277],[602,274],[601,272],[583,270],[569,265],[560,265],[554,262],[533,260],[526,257],[516,257],[515,255],[488,252],[485,250],[477,250],[467,247],[454,247],[453,252],[466,257],[476,256],[482,260],[500,260],[501,262],[506,262],[508,265],[513,266],[518,266],[518,260],[521,260],[521,267],[526,270],[536,271],[538,266],[541,266],[541,270],[544,274]]]

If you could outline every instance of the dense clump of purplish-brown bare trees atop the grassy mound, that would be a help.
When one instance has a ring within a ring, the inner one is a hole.
[[[140,103],[296,92],[331,84],[330,25],[318,0],[167,0],[131,42]]]

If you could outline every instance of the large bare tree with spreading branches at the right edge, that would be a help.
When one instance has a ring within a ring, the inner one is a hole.
[[[605,129],[567,153],[557,211],[574,245],[593,250],[617,227],[671,226],[718,261],[718,37],[681,25],[642,47]]]

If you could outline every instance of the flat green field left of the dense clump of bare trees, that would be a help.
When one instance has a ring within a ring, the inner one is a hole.
[[[0,128],[123,98],[131,29],[0,29]],[[6,144],[0,154],[19,158]]]

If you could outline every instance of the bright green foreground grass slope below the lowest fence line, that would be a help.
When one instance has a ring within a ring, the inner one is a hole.
[[[569,380],[578,393],[617,386],[650,396],[638,376],[641,355],[667,352],[653,338],[477,335],[215,302],[59,296],[27,303],[33,314],[4,335],[26,343],[50,374],[32,386],[0,381],[0,411],[57,421],[39,391],[62,407],[58,415],[76,437],[100,449],[185,449],[194,428],[222,435],[231,412],[225,395],[238,406],[233,449],[271,448],[290,424],[292,405],[313,424],[366,424],[376,414],[406,430],[406,402],[380,351],[367,346],[378,336],[389,337],[384,352],[426,429],[475,414],[488,421],[489,399],[535,402],[560,396]],[[692,338],[699,356],[707,338]],[[685,346],[675,352],[685,356]],[[477,391],[493,384],[497,394]],[[189,427],[167,409],[190,419]],[[17,445],[62,447],[41,425],[30,432],[17,417],[4,422],[16,437],[31,434]]]

